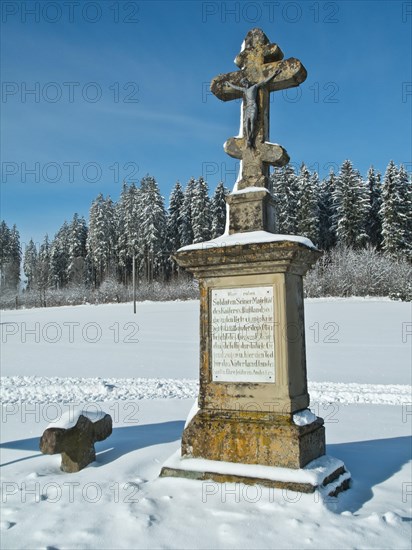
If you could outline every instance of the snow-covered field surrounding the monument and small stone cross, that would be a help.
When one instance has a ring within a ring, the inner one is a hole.
[[[411,304],[306,301],[311,408],[352,474],[323,501],[158,478],[197,393],[198,303],[2,314],[2,548],[410,548]],[[113,434],[77,474],[38,450],[77,408]]]

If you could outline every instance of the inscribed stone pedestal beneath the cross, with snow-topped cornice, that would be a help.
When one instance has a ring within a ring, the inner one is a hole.
[[[300,241],[256,231],[177,253],[200,285],[199,411],[184,430],[180,466],[161,475],[193,477],[185,459],[301,469],[325,454],[323,420],[293,421],[309,405],[302,277],[320,255]],[[341,474],[339,466],[327,477]]]

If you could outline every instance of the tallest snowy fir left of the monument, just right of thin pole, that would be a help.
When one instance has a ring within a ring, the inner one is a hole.
[[[147,281],[165,276],[166,211],[156,180],[145,176],[140,183],[139,260]]]

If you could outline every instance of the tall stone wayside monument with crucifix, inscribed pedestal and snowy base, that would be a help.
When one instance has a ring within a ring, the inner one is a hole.
[[[325,456],[323,419],[308,410],[303,276],[321,253],[303,237],[275,234],[268,188],[269,166],[289,160],[269,142],[269,95],[298,86],[306,70],[283,61],[260,29],[235,63],[240,71],[211,89],[223,101],[243,98],[242,136],[225,144],[242,159],[241,179],[226,198],[229,235],[175,255],[199,281],[200,383],[180,452],[161,475],[335,495],[350,474]]]

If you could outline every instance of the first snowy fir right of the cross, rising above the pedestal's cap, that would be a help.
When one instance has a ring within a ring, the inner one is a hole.
[[[293,166],[287,164],[282,168],[276,168],[271,174],[271,183],[275,201],[276,231],[285,235],[296,235],[299,189]]]

